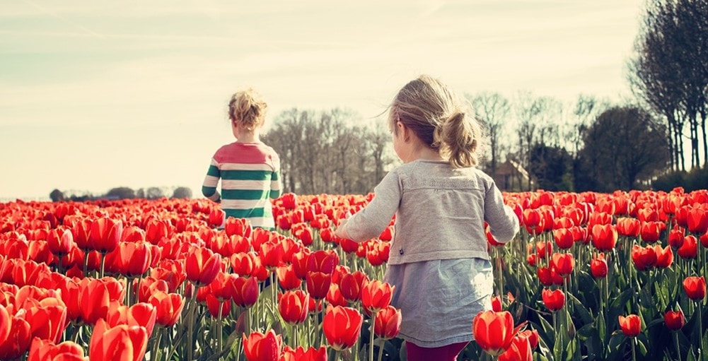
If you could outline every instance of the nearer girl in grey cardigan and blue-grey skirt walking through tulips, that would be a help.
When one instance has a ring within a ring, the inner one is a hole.
[[[519,230],[491,177],[473,166],[482,133],[450,89],[430,76],[406,84],[389,107],[389,128],[404,165],[390,171],[364,209],[336,230],[378,236],[396,216],[384,281],[395,286],[399,337],[409,361],[456,360],[472,320],[491,309],[492,267],[484,222],[499,242]]]

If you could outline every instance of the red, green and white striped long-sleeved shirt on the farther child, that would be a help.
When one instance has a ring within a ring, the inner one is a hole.
[[[275,228],[270,200],[280,197],[280,158],[263,143],[224,145],[212,157],[202,194],[216,200],[226,217],[249,219],[253,227]]]

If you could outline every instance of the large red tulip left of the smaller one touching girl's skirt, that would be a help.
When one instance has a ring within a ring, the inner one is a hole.
[[[327,342],[335,350],[351,348],[359,338],[364,316],[356,309],[343,306],[327,306],[322,328]]]

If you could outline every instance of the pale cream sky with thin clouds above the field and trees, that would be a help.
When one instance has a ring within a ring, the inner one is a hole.
[[[642,0],[0,0],[0,201],[185,186],[233,142],[229,97],[266,122],[375,122],[430,74],[458,93],[629,95]]]

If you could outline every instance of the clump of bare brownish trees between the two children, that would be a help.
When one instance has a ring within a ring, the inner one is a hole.
[[[381,181],[390,135],[362,125],[352,111],[297,110],[280,113],[263,142],[280,156],[283,190],[298,194],[367,193]]]

